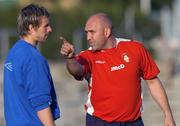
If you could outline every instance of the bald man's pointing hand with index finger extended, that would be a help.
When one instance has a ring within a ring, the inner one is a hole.
[[[70,44],[64,37],[60,37],[59,39],[63,41],[60,50],[61,55],[63,55],[66,59],[74,58],[75,56],[74,46]]]

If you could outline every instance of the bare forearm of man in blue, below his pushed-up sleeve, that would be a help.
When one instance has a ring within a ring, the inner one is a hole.
[[[37,115],[41,120],[43,126],[56,126],[53,120],[50,107],[38,111]]]

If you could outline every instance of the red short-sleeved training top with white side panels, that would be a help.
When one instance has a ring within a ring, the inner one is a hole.
[[[140,42],[117,39],[114,48],[85,50],[76,59],[85,65],[89,82],[87,113],[108,122],[141,116],[141,78],[152,79],[160,71]]]

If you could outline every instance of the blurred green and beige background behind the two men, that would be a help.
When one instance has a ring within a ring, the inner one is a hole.
[[[87,49],[84,25],[97,12],[107,13],[117,37],[144,43],[161,69],[160,78],[167,91],[177,126],[180,126],[180,0],[0,0],[0,126],[3,114],[3,61],[18,39],[16,16],[27,4],[46,7],[51,13],[53,32],[39,50],[48,59],[55,83],[61,118],[57,126],[85,126],[84,103],[87,82],[71,77],[59,54],[59,37],[75,45],[76,52]],[[145,126],[163,126],[163,113],[142,82],[142,114]]]

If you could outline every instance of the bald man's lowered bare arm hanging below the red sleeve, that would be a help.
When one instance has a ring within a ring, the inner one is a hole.
[[[151,80],[146,80],[146,82],[148,84],[152,97],[159,104],[162,111],[164,112],[165,126],[175,126],[167,94],[162,86],[161,81],[158,77],[156,77]]]

